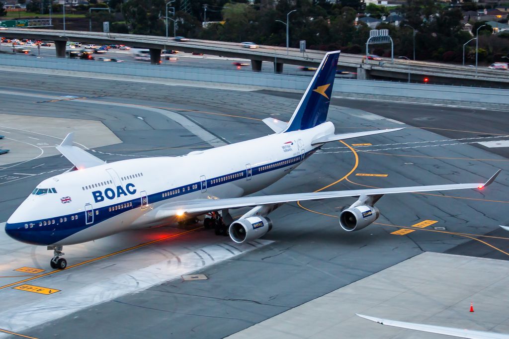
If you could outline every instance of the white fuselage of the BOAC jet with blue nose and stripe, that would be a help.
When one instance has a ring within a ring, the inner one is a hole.
[[[48,191],[27,197],[8,224],[20,241],[68,245],[171,223],[179,217],[158,219],[158,208],[257,192],[312,154],[318,148],[311,145],[313,139],[333,132],[333,124],[326,122],[183,156],[130,159],[67,172],[39,184],[37,189]]]

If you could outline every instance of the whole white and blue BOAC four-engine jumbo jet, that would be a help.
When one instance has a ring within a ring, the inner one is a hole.
[[[274,131],[267,136],[177,157],[106,163],[73,146],[69,133],[56,149],[72,168],[37,185],[7,220],[6,233],[24,243],[47,246],[53,250],[51,268],[65,269],[64,245],[206,214],[213,216],[204,219],[206,228],[229,234],[239,244],[249,242],[272,229],[270,212],[295,201],[358,197],[339,216],[341,228],[358,231],[380,216],[374,205],[384,194],[482,189],[500,173],[484,184],[249,196],[289,174],[326,143],[402,129],[334,134],[334,125],[326,120],[339,56],[340,51],[325,54],[290,122],[263,120]],[[251,209],[234,220],[230,210],[242,207]]]

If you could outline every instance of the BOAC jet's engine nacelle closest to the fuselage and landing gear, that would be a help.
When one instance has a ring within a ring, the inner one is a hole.
[[[239,219],[230,225],[230,238],[238,244],[263,237],[272,230],[272,221],[267,217],[252,216]]]

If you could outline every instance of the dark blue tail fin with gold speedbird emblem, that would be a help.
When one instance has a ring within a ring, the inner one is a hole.
[[[285,132],[313,128],[325,122],[339,57],[340,51],[325,54]]]

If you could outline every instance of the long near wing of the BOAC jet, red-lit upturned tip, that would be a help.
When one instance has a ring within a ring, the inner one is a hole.
[[[449,185],[431,185],[431,186],[410,186],[393,188],[373,188],[373,189],[354,189],[346,191],[330,192],[310,192],[310,193],[292,193],[262,196],[244,196],[228,199],[194,199],[189,201],[180,201],[168,203],[161,206],[156,212],[157,217],[171,217],[174,215],[199,214],[214,210],[223,210],[231,208],[241,208],[248,206],[274,205],[280,203],[289,203],[294,201],[320,200],[347,196],[360,195],[383,195],[394,193],[427,192],[427,191],[445,191],[452,189],[483,189],[490,185],[501,170],[498,170],[486,183],[472,184],[449,184]]]

